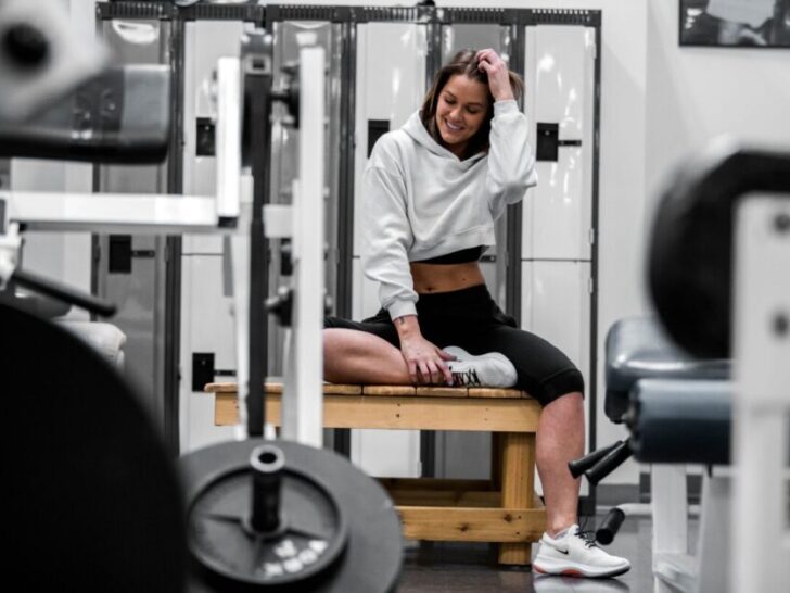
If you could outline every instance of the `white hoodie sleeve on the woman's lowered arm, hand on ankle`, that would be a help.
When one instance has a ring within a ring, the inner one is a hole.
[[[406,184],[398,173],[369,164],[362,175],[362,266],[379,282],[381,305],[393,319],[417,315],[417,292],[409,269],[413,242],[406,213]]]

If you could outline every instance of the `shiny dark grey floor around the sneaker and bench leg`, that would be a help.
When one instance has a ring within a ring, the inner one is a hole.
[[[601,517],[598,518],[600,519]],[[592,522],[590,519],[588,528]],[[689,528],[696,531],[697,521],[691,520]],[[533,545],[533,554],[536,550],[537,545]],[[649,518],[627,518],[614,542],[604,550],[628,558],[632,569],[616,579],[534,576],[527,570],[498,566],[496,550],[488,544],[435,542],[409,545],[405,553],[398,592],[648,593],[652,591]]]

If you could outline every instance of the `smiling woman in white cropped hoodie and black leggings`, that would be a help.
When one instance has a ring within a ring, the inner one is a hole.
[[[578,480],[568,470],[584,452],[582,374],[517,328],[477,264],[495,243],[495,220],[537,182],[521,90],[494,50],[463,50],[439,71],[422,109],[379,139],[365,171],[362,231],[365,273],[380,285],[382,310],[362,323],[327,319],[324,378],[527,391],[544,406],[536,462],[547,531],[533,566],[610,577],[630,565],[581,532]]]

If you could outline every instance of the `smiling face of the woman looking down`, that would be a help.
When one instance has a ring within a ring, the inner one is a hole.
[[[454,74],[436,104],[436,127],[447,148],[458,157],[483,125],[488,112],[488,87],[462,74]]]

